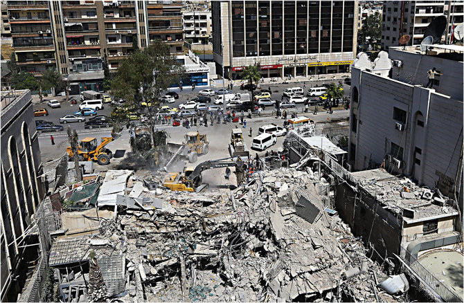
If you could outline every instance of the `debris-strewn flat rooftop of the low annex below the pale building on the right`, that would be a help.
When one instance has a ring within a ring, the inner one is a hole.
[[[420,187],[409,178],[393,176],[385,169],[370,169],[351,174],[359,181],[360,187],[371,194],[384,208],[395,214],[402,214],[405,208],[414,210],[413,218],[403,217],[407,223],[451,217],[458,214],[453,206],[440,206],[431,203],[430,200],[422,199],[422,193],[427,190],[427,187]],[[409,192],[404,190],[405,187],[408,188]]]

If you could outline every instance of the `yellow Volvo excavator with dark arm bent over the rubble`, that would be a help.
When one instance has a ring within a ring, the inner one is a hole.
[[[170,190],[199,192],[206,187],[206,185],[202,185],[201,187],[199,186],[202,183],[202,172],[204,170],[231,166],[235,167],[237,183],[242,183],[242,178],[244,176],[243,161],[240,157],[238,157],[235,161],[233,158],[209,160],[204,163],[200,163],[195,168],[191,166],[184,167],[184,171],[182,173],[171,172],[164,180],[163,186],[168,187]]]

